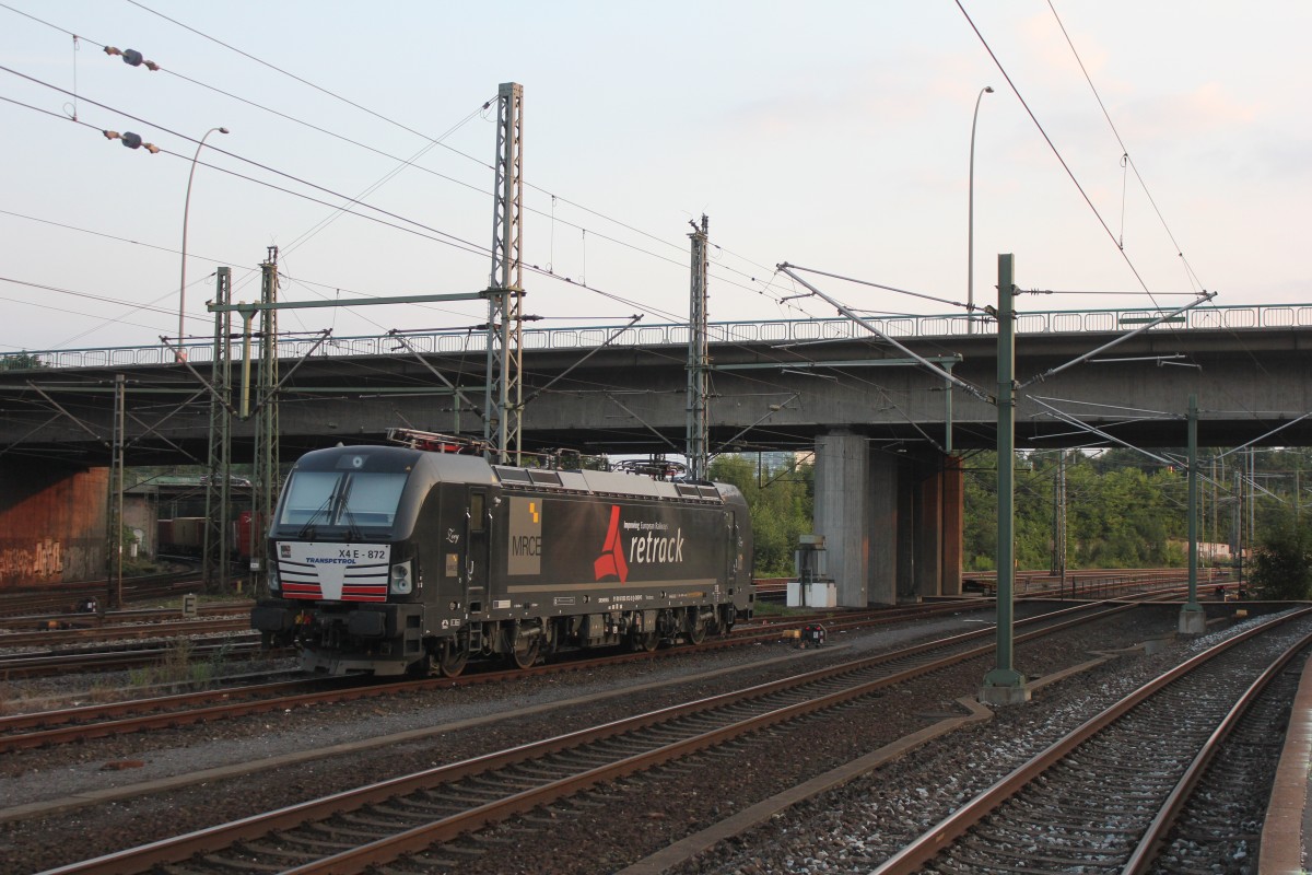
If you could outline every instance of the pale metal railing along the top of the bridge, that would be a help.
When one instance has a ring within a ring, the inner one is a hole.
[[[1015,328],[1019,335],[1106,333],[1145,325],[1151,325],[1149,331],[1153,332],[1312,328],[1312,304],[1197,307],[1178,316],[1168,317],[1170,312],[1162,308],[1021,312],[1017,316]],[[1151,324],[1158,319],[1162,321]],[[983,315],[892,315],[869,317],[865,323],[896,338],[942,338],[997,333],[997,323]],[[870,331],[866,325],[837,317],[722,321],[708,325],[708,340],[712,344],[808,344],[861,338],[869,335]],[[687,325],[676,323],[529,328],[523,331],[522,348],[533,350],[594,349],[602,345],[617,348],[686,346],[687,338]],[[487,352],[487,336],[470,329],[405,335],[405,340],[416,350],[426,354]],[[297,359],[306,354],[314,357],[411,354],[396,337],[390,335],[331,337],[318,346],[315,342],[315,338],[306,337],[279,340],[278,358]],[[234,356],[240,356],[240,344],[235,349]],[[213,359],[213,345],[209,342],[188,344],[186,357],[193,365],[207,365]],[[164,345],[25,350],[0,353],[0,370],[169,365],[173,361],[174,352]]]

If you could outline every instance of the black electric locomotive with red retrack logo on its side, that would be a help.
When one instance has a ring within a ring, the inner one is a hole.
[[[750,617],[731,485],[491,464],[401,446],[297,462],[269,526],[266,643],[331,674],[459,674],[500,655],[701,641]]]

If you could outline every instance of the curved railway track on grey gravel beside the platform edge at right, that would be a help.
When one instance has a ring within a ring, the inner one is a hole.
[[[934,824],[875,871],[1147,872],[1164,847],[1174,858],[1170,871],[1179,871],[1182,855],[1190,858],[1190,871],[1229,871],[1233,851],[1227,840],[1235,838],[1236,824],[1225,821],[1218,829],[1216,798],[1195,799],[1195,790],[1236,727],[1245,720],[1250,727],[1269,725],[1270,708],[1278,704],[1267,703],[1265,714],[1253,706],[1312,645],[1307,623],[1296,622],[1309,615],[1312,609],[1305,609],[1252,628],[1161,674]],[[1224,783],[1224,773],[1218,773],[1204,787]],[[1186,833],[1168,845],[1170,828],[1190,802],[1195,804]],[[1199,825],[1208,820],[1210,826]],[[1199,850],[1199,830],[1211,840],[1211,853]]]

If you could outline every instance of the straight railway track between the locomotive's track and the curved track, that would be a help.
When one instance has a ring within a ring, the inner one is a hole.
[[[1017,640],[1131,610],[1078,606],[1023,624]],[[185,862],[185,871],[247,868],[255,858],[291,872],[346,872],[405,854],[438,865],[429,850],[468,830],[736,737],[841,707],[876,690],[992,652],[992,628],[854,660],[748,690],[690,702],[600,727],[307,802],[257,817],[157,841],[51,872],[126,872]],[[989,643],[981,643],[981,639]],[[652,773],[649,773],[652,774]],[[276,862],[274,862],[276,861]],[[178,870],[181,871],[181,870]]]

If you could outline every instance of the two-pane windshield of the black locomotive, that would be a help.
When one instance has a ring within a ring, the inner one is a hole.
[[[370,471],[294,471],[278,525],[312,529],[391,529],[409,475]]]

